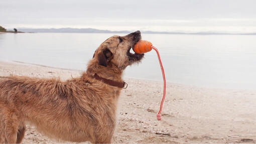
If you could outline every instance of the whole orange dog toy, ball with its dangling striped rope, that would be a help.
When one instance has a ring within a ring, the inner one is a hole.
[[[163,80],[164,80],[163,98],[162,98],[162,101],[161,101],[160,109],[159,109],[159,111],[157,113],[157,120],[161,120],[161,112],[162,112],[163,103],[164,103],[164,100],[165,100],[165,93],[166,93],[166,80],[165,80],[165,71],[164,71],[163,64],[162,64],[162,61],[161,61],[161,58],[160,58],[160,54],[159,54],[157,48],[155,48],[152,45],[152,43],[148,42],[148,41],[140,40],[133,47],[134,52],[137,53],[137,54],[147,53],[147,52],[151,51],[152,49],[154,49],[156,51],[156,53],[157,53],[159,64],[160,64],[160,67],[161,67],[161,70],[162,70]]]

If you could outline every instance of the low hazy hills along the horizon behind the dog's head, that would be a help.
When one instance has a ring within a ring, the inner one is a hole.
[[[76,29],[76,28],[60,28],[60,29],[30,29],[19,28],[19,31],[27,33],[132,33],[132,31],[109,31],[98,29]],[[217,33],[217,32],[198,32],[198,33],[184,33],[184,32],[154,32],[154,31],[142,31],[144,34],[183,34],[183,35],[256,35],[256,33]]]

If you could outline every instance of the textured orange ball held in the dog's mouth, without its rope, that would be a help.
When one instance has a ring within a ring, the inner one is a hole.
[[[133,50],[137,54],[147,53],[152,50],[152,43],[144,40],[140,40],[134,47]]]

